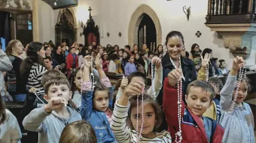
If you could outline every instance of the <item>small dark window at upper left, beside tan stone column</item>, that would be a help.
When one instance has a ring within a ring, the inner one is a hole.
[[[32,15],[31,14],[17,15],[17,29],[32,30]]]

